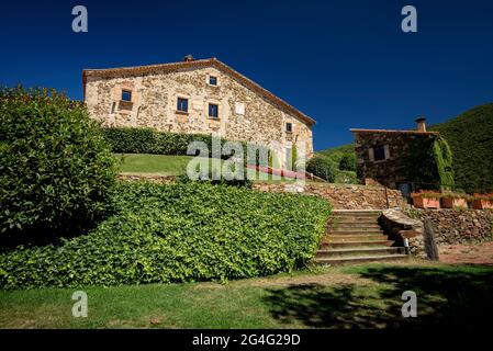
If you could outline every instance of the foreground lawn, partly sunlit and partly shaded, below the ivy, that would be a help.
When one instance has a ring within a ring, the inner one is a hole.
[[[401,295],[417,294],[403,318]],[[468,328],[493,312],[493,268],[411,261],[190,284],[87,287],[88,318],[71,317],[74,290],[0,292],[1,328]]]

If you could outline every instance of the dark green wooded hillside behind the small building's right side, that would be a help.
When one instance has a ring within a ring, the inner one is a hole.
[[[477,106],[446,123],[440,132],[453,155],[456,188],[467,193],[493,191],[493,103]]]

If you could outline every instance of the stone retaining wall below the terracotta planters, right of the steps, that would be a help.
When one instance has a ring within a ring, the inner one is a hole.
[[[437,245],[474,244],[493,239],[493,211],[488,210],[408,210],[408,215],[428,217]]]

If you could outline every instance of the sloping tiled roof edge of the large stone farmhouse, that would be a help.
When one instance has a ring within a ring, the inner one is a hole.
[[[267,101],[277,105],[278,107],[298,116],[300,120],[304,121],[309,125],[314,125],[315,120],[309,117],[303,112],[293,107],[282,99],[276,97],[270,91],[264,89],[253,80],[246,78],[242,73],[237,72],[229,66],[223,64],[219,59],[208,58],[208,59],[197,59],[192,61],[181,61],[181,63],[172,63],[172,64],[161,64],[161,65],[149,65],[149,66],[136,66],[136,67],[120,67],[120,68],[109,68],[109,69],[85,69],[82,71],[82,83],[83,89],[86,90],[86,82],[88,77],[108,79],[108,78],[122,78],[122,77],[138,77],[145,75],[154,75],[154,73],[163,73],[170,72],[176,70],[183,69],[194,69],[194,68],[205,68],[205,67],[214,67],[220,71],[233,77],[237,81],[239,81],[246,88],[251,89],[257,92],[259,95],[265,98]]]

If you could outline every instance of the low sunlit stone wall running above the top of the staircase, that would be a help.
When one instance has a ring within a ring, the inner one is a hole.
[[[380,186],[314,184],[304,186],[279,183],[255,183],[254,189],[270,192],[299,192],[316,194],[334,206],[335,210],[381,210],[386,208],[385,189]],[[404,207],[405,200],[397,190],[386,191],[390,207]]]

